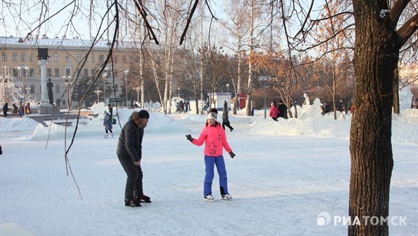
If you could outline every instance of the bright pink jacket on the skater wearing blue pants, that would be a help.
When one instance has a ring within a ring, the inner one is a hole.
[[[224,147],[225,151],[228,153],[232,151],[231,147],[226,141],[225,130],[219,123],[217,123],[216,126],[210,126],[210,124],[206,122],[206,126],[202,129],[199,138],[193,139],[192,144],[201,146],[203,142],[205,142],[205,151],[203,151],[203,154],[205,155],[222,155],[222,147]]]

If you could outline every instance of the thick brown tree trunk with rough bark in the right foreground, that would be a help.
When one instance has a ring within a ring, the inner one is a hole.
[[[380,1],[353,1],[355,92],[350,130],[351,224],[348,235],[388,235],[392,176],[392,104],[399,49],[379,16]],[[375,221],[371,221],[374,217]],[[376,217],[378,224],[376,223]]]

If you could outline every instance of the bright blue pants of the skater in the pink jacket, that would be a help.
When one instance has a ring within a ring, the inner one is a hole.
[[[212,157],[205,155],[205,183],[203,185],[203,195],[212,194],[212,180],[215,176],[214,165],[219,174],[219,189],[221,195],[228,194],[228,178],[226,177],[224,156]]]

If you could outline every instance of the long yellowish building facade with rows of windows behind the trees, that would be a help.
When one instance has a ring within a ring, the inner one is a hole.
[[[93,47],[91,45],[94,44]],[[46,78],[53,83],[54,105],[68,108],[68,96],[75,89],[75,78],[98,78],[98,83],[93,87],[97,98],[95,101],[104,103],[120,101],[119,96],[125,87],[127,68],[132,65],[136,51],[129,44],[127,47],[119,44],[118,50],[114,49],[113,63],[104,64],[109,55],[111,42],[108,40],[81,40],[77,37],[49,38],[46,35],[37,38],[0,37],[0,68],[2,94],[4,102],[27,102],[38,103],[41,100],[41,90],[46,89],[40,82],[40,65],[38,65],[38,49],[47,49],[49,58],[46,65]],[[110,61],[110,60],[109,60]],[[111,66],[110,66],[111,65]],[[104,67],[102,74],[99,74]],[[124,73],[125,71],[125,73]],[[113,78],[114,76],[114,78]],[[13,81],[15,92],[7,88],[8,82]],[[83,83],[82,81],[77,83]],[[109,83],[112,85],[109,86]],[[113,85],[114,83],[114,85]],[[67,90],[67,87],[69,90]],[[109,87],[111,90],[109,91]],[[104,94],[108,94],[104,96]],[[116,95],[115,95],[116,94]],[[72,108],[78,107],[77,101],[72,101]],[[82,104],[81,106],[86,106]]]

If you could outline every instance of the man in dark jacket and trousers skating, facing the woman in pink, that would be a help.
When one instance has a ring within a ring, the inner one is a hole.
[[[150,197],[144,195],[142,187],[142,139],[144,128],[150,118],[146,110],[134,111],[123,126],[118,140],[119,162],[126,172],[125,205],[141,206],[141,201],[150,203]]]

